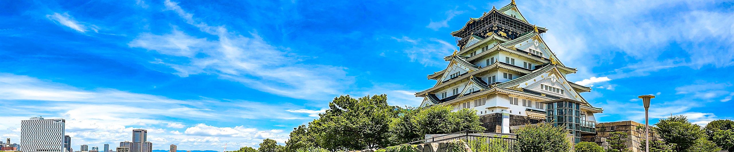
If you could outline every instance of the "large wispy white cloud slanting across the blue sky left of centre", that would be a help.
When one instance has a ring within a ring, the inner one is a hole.
[[[217,39],[197,38],[183,31],[171,34],[140,34],[130,47],[142,47],[158,53],[183,57],[157,59],[152,63],[169,66],[175,75],[211,74],[280,96],[298,99],[328,99],[352,85],[354,78],[347,76],[346,68],[319,64],[301,64],[308,56],[288,53],[289,48],[269,45],[257,33],[238,35],[224,26],[207,26],[197,22],[193,14],[177,3],[166,1],[166,7],[178,13],[186,23]],[[201,54],[203,56],[195,56]],[[183,61],[182,61],[183,60]]]

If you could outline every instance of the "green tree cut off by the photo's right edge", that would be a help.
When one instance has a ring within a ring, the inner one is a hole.
[[[711,121],[706,125],[705,130],[709,140],[720,148],[734,151],[734,121],[728,119]]]

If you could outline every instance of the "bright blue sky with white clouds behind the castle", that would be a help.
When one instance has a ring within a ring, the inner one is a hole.
[[[451,31],[509,1],[0,1],[0,136],[65,118],[73,148],[284,142],[334,96],[416,106]],[[734,1],[517,1],[600,122],[733,118]]]

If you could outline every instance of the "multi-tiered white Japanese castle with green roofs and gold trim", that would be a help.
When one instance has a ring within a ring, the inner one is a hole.
[[[592,88],[571,83],[564,66],[542,39],[547,28],[537,27],[517,10],[515,0],[500,9],[470,18],[459,31],[459,50],[444,58],[448,66],[428,75],[436,85],[415,94],[421,107],[451,105],[473,108],[487,132],[512,133],[539,122],[566,126],[575,137],[594,136],[593,107],[579,93]]]

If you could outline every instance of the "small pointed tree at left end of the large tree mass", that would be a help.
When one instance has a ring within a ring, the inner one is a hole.
[[[283,150],[284,152],[296,152],[301,148],[307,148],[308,150],[316,149],[316,147],[318,147],[316,146],[316,143],[313,142],[316,139],[313,137],[313,134],[308,132],[308,127],[305,125],[294,128],[290,137],[291,138],[286,141],[286,148]]]

